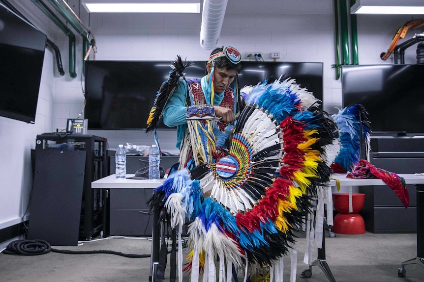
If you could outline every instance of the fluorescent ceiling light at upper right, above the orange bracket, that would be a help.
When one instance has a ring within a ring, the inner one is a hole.
[[[423,15],[423,0],[357,0],[351,14]]]

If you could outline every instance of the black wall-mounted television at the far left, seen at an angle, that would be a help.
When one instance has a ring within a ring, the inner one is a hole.
[[[46,40],[0,3],[0,116],[35,123]]]

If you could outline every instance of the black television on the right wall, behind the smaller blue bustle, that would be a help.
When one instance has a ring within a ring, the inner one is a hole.
[[[342,66],[343,107],[362,104],[373,133],[424,133],[424,65]]]

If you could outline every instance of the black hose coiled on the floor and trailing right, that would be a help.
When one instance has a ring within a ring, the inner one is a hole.
[[[70,250],[58,250],[52,248],[52,246],[44,240],[16,240],[10,242],[3,254],[7,255],[24,255],[24,256],[37,256],[47,254],[49,252],[61,253],[61,254],[112,254],[118,256],[125,256],[130,258],[150,257],[149,255],[135,255],[135,254],[124,254],[115,251],[70,251]]]

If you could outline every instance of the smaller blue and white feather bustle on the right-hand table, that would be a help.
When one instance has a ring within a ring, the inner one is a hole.
[[[366,159],[369,160],[371,127],[368,112],[363,105],[355,104],[339,109],[332,118],[339,129],[340,150],[331,168],[335,173],[346,173],[358,164],[362,147],[366,151]]]

